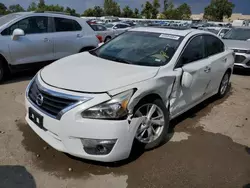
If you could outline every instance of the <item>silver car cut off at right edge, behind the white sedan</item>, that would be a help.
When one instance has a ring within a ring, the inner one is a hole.
[[[250,70],[250,27],[234,27],[223,41],[235,52],[235,68]]]

